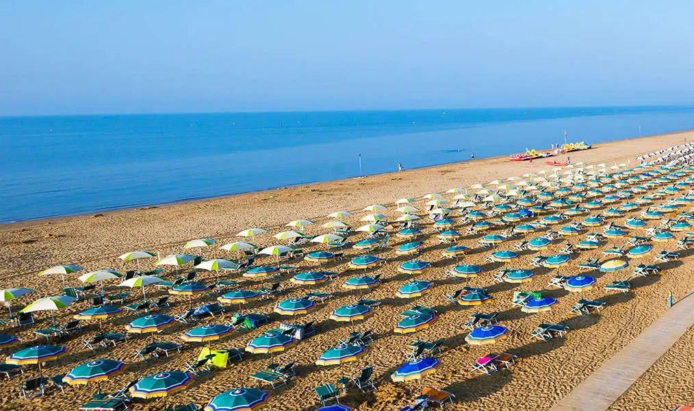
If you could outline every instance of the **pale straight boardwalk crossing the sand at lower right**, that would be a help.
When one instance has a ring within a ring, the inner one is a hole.
[[[607,410],[694,324],[692,312],[694,295],[688,294],[550,411]]]

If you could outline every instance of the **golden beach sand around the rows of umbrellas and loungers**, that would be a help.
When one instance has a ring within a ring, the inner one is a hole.
[[[585,161],[598,162],[627,162],[641,153],[647,153],[657,149],[667,148],[684,142],[684,137],[691,141],[693,132],[645,137],[623,142],[600,144],[594,149],[578,153],[571,153],[573,162]],[[231,196],[223,199],[198,201],[167,205],[159,208],[140,210],[128,210],[125,212],[107,213],[102,217],[72,217],[67,219],[51,219],[50,221],[37,221],[27,224],[12,224],[3,226],[0,231],[0,276],[4,287],[32,287],[37,292],[33,296],[24,297],[14,305],[18,310],[25,303],[33,301],[37,296],[49,296],[59,294],[60,278],[58,276],[47,278],[38,277],[37,271],[58,264],[77,264],[87,269],[114,268],[118,270],[133,268],[130,265],[121,264],[117,256],[126,251],[146,249],[159,252],[161,255],[169,253],[183,253],[183,244],[188,240],[199,237],[212,237],[217,240],[217,245],[239,240],[233,235],[243,228],[252,226],[264,227],[271,230],[270,233],[258,237],[261,245],[278,244],[272,234],[285,230],[283,227],[287,221],[294,219],[311,219],[316,222],[314,226],[306,228],[307,234],[316,235],[324,233],[320,226],[328,221],[325,215],[335,210],[360,210],[365,205],[382,203],[389,206],[385,214],[394,219],[398,214],[392,206],[393,201],[403,196],[420,198],[430,192],[444,192],[451,187],[467,187],[472,183],[486,183],[495,178],[521,175],[528,172],[536,172],[549,168],[539,161],[533,165],[528,162],[514,163],[505,158],[493,158],[489,160],[475,160],[441,167],[403,171],[396,174],[384,174],[348,181],[336,181],[317,185],[293,187],[282,190],[271,190],[255,194]],[[419,208],[423,201],[415,203]],[[638,214],[641,210],[632,212]],[[355,217],[346,219],[348,224],[357,226],[358,219],[364,212],[355,212]],[[625,216],[627,217],[627,216]],[[623,223],[625,217],[613,219],[617,224]],[[576,217],[574,221],[580,221],[584,217]],[[651,224],[650,224],[651,225]],[[584,233],[601,231],[601,228],[584,230]],[[434,266],[418,276],[419,279],[432,280],[434,290],[418,299],[418,304],[437,308],[440,311],[438,320],[428,329],[412,334],[398,335],[393,333],[393,327],[398,319],[398,313],[404,311],[412,301],[397,299],[396,290],[404,285],[409,276],[398,274],[396,269],[400,262],[408,258],[398,258],[394,249],[403,243],[398,237],[391,237],[391,247],[380,251],[379,256],[388,258],[389,263],[373,271],[378,272],[384,278],[383,284],[366,294],[369,298],[379,299],[384,302],[384,308],[375,315],[357,324],[357,329],[375,329],[375,342],[371,344],[364,358],[355,363],[347,364],[346,373],[353,374],[361,367],[368,364],[376,364],[376,380],[378,392],[364,395],[354,389],[341,400],[342,403],[359,410],[396,410],[399,407],[412,403],[414,394],[419,385],[411,383],[391,383],[390,374],[403,362],[406,347],[415,339],[428,339],[433,341],[438,338],[447,338],[446,349],[439,356],[441,367],[435,374],[427,376],[422,386],[437,387],[455,393],[458,402],[456,410],[546,410],[575,387],[581,380],[591,374],[593,370],[602,364],[604,360],[619,351],[632,338],[641,333],[649,324],[657,319],[667,309],[666,296],[672,291],[675,299],[684,296],[694,289],[694,277],[689,275],[691,269],[686,267],[690,253],[684,253],[684,258],[677,262],[663,265],[661,276],[648,276],[633,281],[635,291],[631,294],[605,294],[602,287],[613,280],[627,276],[627,271],[617,273],[597,274],[598,287],[585,292],[583,297],[599,299],[607,303],[607,308],[602,314],[589,316],[575,316],[570,312],[570,306],[582,296],[569,294],[563,290],[548,290],[546,294],[559,299],[557,308],[541,314],[525,314],[518,308],[511,308],[511,296],[514,290],[543,290],[548,279],[555,274],[573,275],[579,262],[590,258],[602,258],[600,250],[586,251],[574,255],[573,263],[568,267],[557,270],[536,269],[540,274],[532,282],[523,285],[495,284],[491,281],[491,271],[501,268],[500,265],[484,264],[484,257],[489,250],[476,248],[477,237],[465,237],[460,243],[473,248],[473,252],[464,258],[468,264],[477,264],[482,267],[484,273],[471,281],[473,286],[489,287],[493,295],[490,304],[478,308],[463,308],[457,305],[446,305],[443,299],[444,293],[450,293],[461,286],[459,279],[445,278],[443,272],[455,265],[455,260],[441,258],[441,251],[445,246],[439,245],[437,237],[431,235],[432,230],[426,226],[424,232],[425,251],[421,254],[421,260],[434,262]],[[527,235],[533,238],[537,235]],[[680,236],[681,237],[681,236]],[[361,238],[361,236],[355,236]],[[509,264],[510,268],[525,268],[533,255],[552,255],[559,252],[561,246],[568,240],[576,242],[578,237],[555,240],[550,249],[540,253],[525,251],[522,258]],[[353,238],[350,238],[353,240]],[[496,247],[510,249],[520,239],[511,240]],[[610,240],[602,249],[623,244],[625,240]],[[321,246],[314,245],[308,250],[318,250]],[[674,250],[672,243],[655,243],[654,253],[668,249]],[[205,258],[234,258],[233,253],[221,251],[214,246],[203,251]],[[346,262],[355,255],[355,251],[348,250],[344,262],[331,265],[329,269],[342,271],[346,269]],[[644,258],[643,262],[650,262],[651,258]],[[261,260],[262,261],[262,260]],[[152,262],[146,262],[143,269],[151,268]],[[296,261],[294,263],[300,269],[312,267],[307,262]],[[345,337],[350,331],[350,326],[344,323],[335,323],[328,319],[330,312],[341,305],[346,305],[358,297],[357,292],[350,292],[342,287],[345,278],[355,275],[355,271],[348,271],[338,280],[327,285],[315,287],[321,292],[332,292],[335,299],[321,305],[318,310],[301,317],[299,321],[316,320],[318,333],[314,337],[301,342],[285,353],[280,353],[275,361],[285,362],[296,360],[298,376],[288,385],[266,391],[271,394],[269,410],[314,410],[319,408],[313,388],[323,383],[335,382],[340,377],[339,367],[318,367],[314,361],[320,353],[337,343],[341,337]],[[203,274],[208,282],[213,276]],[[68,276],[69,285],[78,286],[76,275]],[[255,279],[242,279],[243,288],[256,289],[260,281]],[[303,296],[307,287],[297,285],[284,280],[282,288],[285,292],[282,299]],[[121,290],[111,287],[109,292]],[[148,296],[158,296],[163,293],[148,290]],[[130,303],[137,301],[137,291],[130,297]],[[196,303],[213,301],[213,296],[196,298]],[[170,312],[180,314],[185,311],[187,301],[183,297],[171,296],[174,303]],[[244,307],[244,311],[264,312],[271,314],[276,300],[266,300],[251,303]],[[85,301],[79,301],[71,305],[67,310],[58,315],[59,321],[66,321],[69,315],[84,310],[87,307]],[[231,308],[230,308],[231,310]],[[498,344],[487,347],[473,346],[466,351],[462,346],[466,332],[462,330],[462,324],[467,317],[475,311],[493,312],[500,314],[500,325],[511,329],[511,336]],[[164,312],[169,313],[169,311]],[[40,320],[33,329],[44,328],[49,325],[50,317],[47,313],[37,313],[35,317]],[[135,315],[129,314],[109,321],[108,328],[112,331],[124,332],[125,324],[134,319]],[[287,318],[280,318],[278,314],[271,314],[271,322]],[[213,321],[205,321],[211,324]],[[571,332],[564,339],[555,339],[550,342],[537,342],[529,339],[530,331],[541,322],[561,323],[569,326]],[[85,322],[85,325],[88,323]],[[268,328],[265,326],[262,329]],[[174,342],[182,342],[179,335],[192,328],[190,325],[176,324],[164,330],[159,339],[167,339]],[[6,328],[1,333],[10,333],[24,340],[24,346],[39,344],[40,339],[31,333],[30,328]],[[128,344],[120,344],[115,349],[91,352],[82,349],[82,337],[90,337],[98,330],[94,324],[85,327],[83,335],[67,337],[57,341],[67,347],[68,355],[56,362],[46,365],[45,374],[56,375],[69,371],[76,364],[96,358],[112,358],[124,361],[128,364],[126,373],[114,380],[103,384],[104,389],[116,389],[124,385],[135,376],[146,376],[158,371],[182,369],[184,362],[191,362],[196,358],[200,349],[199,344],[185,344],[183,353],[148,362],[137,362],[133,356],[133,349],[144,346],[149,339],[141,335],[133,335]],[[235,346],[243,348],[252,337],[260,335],[262,330],[253,330],[250,333],[239,333],[232,337],[213,343],[214,346]],[[675,401],[686,400],[686,384],[689,378],[679,376],[691,376],[691,361],[686,360],[691,356],[692,335],[688,333],[684,337],[686,342],[675,345],[668,355],[675,358],[675,367],[683,367],[682,374],[675,374],[670,369],[673,362],[664,359],[658,362],[644,376],[633,389],[627,392],[614,406],[614,410],[624,410],[632,405],[638,405],[638,409],[656,410],[663,406],[674,408]],[[43,340],[45,341],[45,340]],[[6,349],[8,354],[17,348]],[[516,367],[511,371],[501,371],[491,376],[475,374],[470,370],[475,359],[479,358],[487,350],[508,351],[520,358]],[[260,371],[271,360],[266,355],[247,355],[246,360],[230,369],[216,370],[211,374],[196,378],[196,383],[180,394],[176,394],[169,403],[183,404],[194,401],[198,405],[206,405],[212,396],[228,389],[242,386],[257,386],[250,375]],[[36,374],[35,366],[26,368],[26,376]],[[676,378],[677,377],[677,378]],[[679,387],[679,388],[675,388]],[[71,410],[86,403],[94,394],[95,387],[76,389],[67,388],[65,394],[56,389],[50,389],[45,396],[30,401],[19,399],[17,380],[0,383],[0,396],[4,402],[3,409],[20,409],[30,405],[40,410]],[[668,396],[668,401],[659,397],[660,392],[669,391],[674,394]],[[647,392],[649,395],[643,396]],[[672,402],[670,402],[670,397]],[[694,399],[691,399],[694,402]],[[163,401],[154,400],[138,403],[135,409],[160,409]],[[636,409],[636,408],[633,408]]]

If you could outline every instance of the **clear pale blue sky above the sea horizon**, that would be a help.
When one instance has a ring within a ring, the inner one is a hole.
[[[694,103],[694,1],[2,1],[0,115]]]

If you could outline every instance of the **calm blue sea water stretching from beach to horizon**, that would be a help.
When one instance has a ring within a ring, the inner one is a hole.
[[[641,131],[639,131],[639,126]],[[0,222],[203,199],[694,128],[694,108],[0,118]]]

